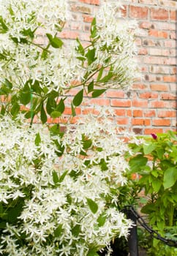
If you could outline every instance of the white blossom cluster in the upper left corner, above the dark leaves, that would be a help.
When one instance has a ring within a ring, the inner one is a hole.
[[[0,81],[10,80],[19,90],[27,80],[38,80],[42,89],[61,91],[80,78],[80,61],[75,46],[50,48],[35,43],[36,31],[55,36],[68,17],[67,1],[6,0],[0,1]],[[34,33],[34,39],[28,33]],[[27,35],[26,35],[27,34]]]

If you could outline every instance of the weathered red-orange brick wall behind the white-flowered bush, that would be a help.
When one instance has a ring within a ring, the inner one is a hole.
[[[148,135],[176,129],[176,9],[169,0],[129,0],[124,18],[139,24],[138,63],[142,78],[129,91],[107,91],[99,99],[86,101],[78,109],[83,115],[94,104],[110,105],[121,127]],[[100,0],[71,0],[72,20],[61,37],[89,39],[90,23]]]

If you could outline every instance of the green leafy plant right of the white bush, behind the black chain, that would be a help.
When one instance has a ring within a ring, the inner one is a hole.
[[[144,140],[138,145],[129,143],[134,152],[133,156],[129,156],[131,172],[140,176],[135,180],[137,192],[144,192],[144,195],[141,193],[145,198],[141,200],[141,212],[147,215],[154,230],[162,236],[169,236],[165,230],[173,230],[177,225],[176,133],[169,131],[157,135],[157,138]],[[176,255],[176,249],[153,239],[149,255]]]

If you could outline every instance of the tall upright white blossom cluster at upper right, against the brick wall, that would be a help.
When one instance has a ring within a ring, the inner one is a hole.
[[[96,56],[100,64],[112,64],[116,78],[110,79],[112,88],[127,88],[140,74],[135,60],[137,48],[135,34],[138,24],[135,20],[125,20],[121,16],[119,1],[104,1],[96,14],[97,43]],[[107,50],[105,50],[107,48]],[[108,60],[108,61],[105,61]]]

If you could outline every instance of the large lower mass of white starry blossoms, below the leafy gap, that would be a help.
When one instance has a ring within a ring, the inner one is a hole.
[[[69,125],[58,146],[44,128],[7,117],[0,131],[0,255],[86,256],[105,246],[110,255],[111,238],[132,225],[117,208],[127,146],[111,118]]]

